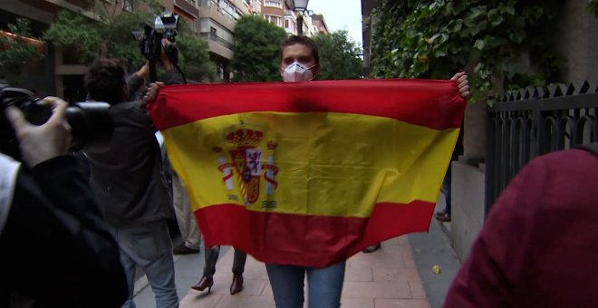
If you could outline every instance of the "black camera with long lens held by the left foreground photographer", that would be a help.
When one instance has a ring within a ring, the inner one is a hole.
[[[52,115],[49,106],[39,103],[32,91],[21,88],[0,88],[0,152],[20,160],[18,140],[14,135],[13,126],[6,119],[5,110],[15,106],[23,111],[25,119],[34,125],[42,125]],[[106,102],[84,101],[77,102],[66,108],[66,120],[71,125],[71,150],[101,149],[111,140],[114,123]]]

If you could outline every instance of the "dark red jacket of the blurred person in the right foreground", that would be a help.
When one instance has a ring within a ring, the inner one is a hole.
[[[590,151],[532,160],[493,205],[444,307],[598,307],[597,183]]]

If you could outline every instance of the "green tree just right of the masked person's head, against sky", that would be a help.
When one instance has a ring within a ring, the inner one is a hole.
[[[319,80],[359,79],[363,76],[362,49],[346,30],[318,34],[313,40],[320,53]]]

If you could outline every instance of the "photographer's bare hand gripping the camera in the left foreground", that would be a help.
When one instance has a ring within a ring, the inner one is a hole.
[[[50,96],[41,103],[52,108],[52,116],[42,126],[29,123],[16,107],[6,109],[6,118],[13,125],[23,160],[30,168],[66,154],[71,146],[71,126],[65,119],[67,103]]]

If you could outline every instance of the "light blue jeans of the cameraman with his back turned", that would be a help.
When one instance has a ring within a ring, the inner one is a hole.
[[[144,226],[111,226],[111,232],[120,246],[121,264],[129,284],[129,299],[122,307],[135,308],[133,288],[136,265],[148,277],[156,296],[156,307],[178,307],[172,242],[166,220]]]

